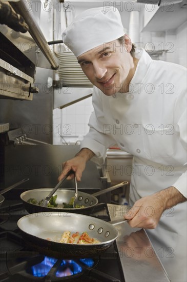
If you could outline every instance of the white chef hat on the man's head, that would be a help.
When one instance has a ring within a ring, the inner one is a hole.
[[[124,35],[119,11],[114,7],[88,9],[63,32],[63,42],[76,57]]]

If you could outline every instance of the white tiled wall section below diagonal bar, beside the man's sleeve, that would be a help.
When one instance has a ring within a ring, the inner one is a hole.
[[[53,144],[75,144],[89,131],[92,97],[53,111]]]

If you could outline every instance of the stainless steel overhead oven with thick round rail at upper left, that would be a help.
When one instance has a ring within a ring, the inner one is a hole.
[[[37,23],[40,8],[40,1],[0,2],[1,97],[32,100],[38,92],[33,85],[36,67],[58,68],[58,58]]]

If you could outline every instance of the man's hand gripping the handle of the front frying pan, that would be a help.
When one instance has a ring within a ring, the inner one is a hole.
[[[124,215],[131,227],[154,229],[163,211],[185,202],[186,198],[173,186],[153,195],[142,197]]]

